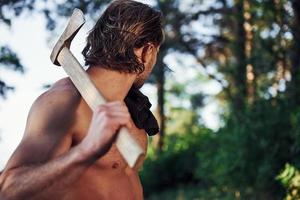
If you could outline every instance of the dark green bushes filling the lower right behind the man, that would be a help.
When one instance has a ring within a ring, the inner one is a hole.
[[[162,152],[150,150],[141,172],[145,197],[283,199],[276,176],[285,163],[300,163],[299,113],[286,101],[261,100],[241,118],[227,116],[217,132],[182,123]]]

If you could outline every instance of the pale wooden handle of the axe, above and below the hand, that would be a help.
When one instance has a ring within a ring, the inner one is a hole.
[[[106,102],[88,74],[67,47],[61,50],[57,59],[92,110]],[[130,167],[134,167],[140,156],[145,154],[142,147],[125,127],[119,130],[116,145]]]

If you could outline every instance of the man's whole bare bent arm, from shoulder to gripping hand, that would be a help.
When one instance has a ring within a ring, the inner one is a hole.
[[[8,200],[59,199],[107,152],[117,128],[128,124],[120,102],[99,106],[87,137],[70,149],[72,136],[66,133],[70,132],[77,103],[59,95],[40,97],[31,108],[24,137],[0,177],[1,195]]]

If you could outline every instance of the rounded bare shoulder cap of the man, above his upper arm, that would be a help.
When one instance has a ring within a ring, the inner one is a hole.
[[[39,126],[44,125],[40,127],[43,129],[70,125],[80,100],[81,96],[71,80],[61,79],[34,101],[28,121]]]

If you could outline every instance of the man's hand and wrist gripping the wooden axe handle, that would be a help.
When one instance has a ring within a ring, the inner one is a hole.
[[[130,113],[123,101],[113,101],[98,106],[91,120],[86,137],[79,144],[83,159],[97,160],[115,141],[121,126],[132,127]]]

